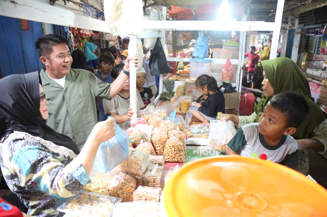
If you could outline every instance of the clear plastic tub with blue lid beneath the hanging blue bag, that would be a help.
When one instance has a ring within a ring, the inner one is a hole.
[[[212,60],[190,59],[190,79],[196,80],[200,75],[210,75]]]

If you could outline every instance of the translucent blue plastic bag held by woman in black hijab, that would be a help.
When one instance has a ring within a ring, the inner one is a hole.
[[[112,118],[109,116],[108,118]],[[116,122],[116,121],[115,121]],[[111,171],[129,158],[129,136],[116,125],[116,135],[102,142],[95,155],[93,168],[102,173]]]

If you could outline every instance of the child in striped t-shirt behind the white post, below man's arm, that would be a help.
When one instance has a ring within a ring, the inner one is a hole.
[[[118,64],[112,68],[111,76],[113,80],[117,79],[123,67],[124,64]],[[130,127],[130,117],[135,112],[132,111],[129,106],[129,79],[127,79],[125,86],[114,98],[111,100],[103,99],[103,108],[106,116],[112,116],[116,120],[117,125],[125,131]],[[141,95],[139,91],[136,90],[136,109],[140,110],[143,108],[144,103]]]

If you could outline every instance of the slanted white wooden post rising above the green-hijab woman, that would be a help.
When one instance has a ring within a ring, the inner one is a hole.
[[[283,8],[284,8],[284,0],[277,1],[277,9],[276,9],[276,17],[275,17],[275,28],[272,33],[272,41],[271,41],[271,51],[270,51],[270,60],[276,58],[279,34],[281,32],[282,25],[282,17],[283,17]]]

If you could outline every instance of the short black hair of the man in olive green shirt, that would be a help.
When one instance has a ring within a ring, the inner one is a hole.
[[[49,58],[50,53],[53,51],[52,47],[61,43],[65,43],[67,47],[69,46],[69,43],[65,38],[59,35],[49,34],[39,37],[35,42],[35,48],[40,57],[45,56],[46,58]]]

